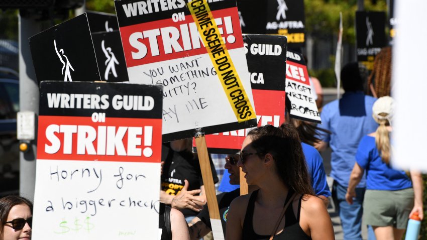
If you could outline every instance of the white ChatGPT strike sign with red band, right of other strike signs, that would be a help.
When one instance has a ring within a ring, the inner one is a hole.
[[[286,62],[286,94],[291,101],[289,114],[304,121],[321,123],[314,100],[313,89],[308,79],[308,71],[302,55],[287,52]]]

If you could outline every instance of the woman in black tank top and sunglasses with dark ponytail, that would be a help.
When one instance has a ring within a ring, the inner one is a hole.
[[[295,127],[249,132],[238,166],[259,190],[231,203],[227,240],[335,239],[323,200],[311,188]]]

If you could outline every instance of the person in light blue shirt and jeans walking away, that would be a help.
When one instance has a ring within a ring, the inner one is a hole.
[[[334,179],[332,196],[340,214],[344,239],[362,240],[362,213],[365,179],[356,188],[357,199],[352,205],[346,202],[346,191],[353,169],[357,145],[363,136],[374,132],[378,124],[372,119],[372,105],[376,98],[363,93],[364,78],[357,62],[345,65],[341,71],[345,93],[339,100],[326,104],[321,113],[319,128],[330,134],[319,133],[321,142],[314,147],[323,151],[329,146],[331,154],[331,177]]]

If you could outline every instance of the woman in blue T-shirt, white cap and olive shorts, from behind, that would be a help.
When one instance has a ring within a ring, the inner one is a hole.
[[[393,99],[380,97],[372,107],[373,118],[380,126],[376,132],[364,136],[356,153],[356,163],[350,176],[346,200],[357,197],[355,191],[366,170],[366,192],[363,201],[363,220],[372,225],[377,239],[402,239],[408,217],[418,212],[423,218],[422,178],[411,171],[411,179],[404,171],[390,165],[390,123]]]

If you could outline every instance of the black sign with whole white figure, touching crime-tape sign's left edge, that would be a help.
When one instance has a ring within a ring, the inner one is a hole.
[[[101,79],[107,82],[129,81],[120,32],[92,34]]]

